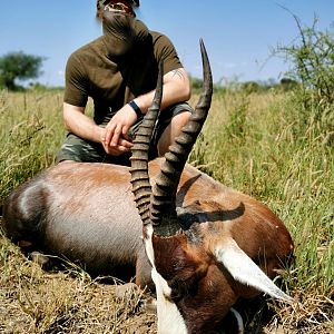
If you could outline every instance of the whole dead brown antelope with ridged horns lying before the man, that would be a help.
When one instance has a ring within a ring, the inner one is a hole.
[[[202,40],[200,51],[203,92],[164,158],[148,163],[147,155],[160,108],[160,66],[130,168],[61,163],[19,186],[3,204],[2,227],[22,249],[79,261],[92,273],[136,268],[136,284],[156,292],[163,334],[212,333],[229,312],[237,316],[238,298],[266,293],[293,301],[271,279],[293,253],[283,222],[186,163],[213,94]]]

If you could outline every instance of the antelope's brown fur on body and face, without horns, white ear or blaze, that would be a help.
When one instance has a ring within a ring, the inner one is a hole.
[[[149,164],[150,179],[160,164],[160,159]],[[215,247],[234,238],[274,277],[292,254],[293,243],[266,206],[189,165],[176,203],[185,232],[154,237],[155,264],[189,333],[209,333],[238,297],[258,294],[236,283],[215,261]],[[78,163],[51,167],[10,194],[2,224],[14,243],[79,262],[94,274],[136,268],[136,283],[153,286],[128,167]]]

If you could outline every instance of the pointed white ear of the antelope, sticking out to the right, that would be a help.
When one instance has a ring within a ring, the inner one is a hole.
[[[272,297],[292,303],[294,299],[279,289],[273,281],[252,261],[252,258],[230,238],[214,250],[233,278],[268,294]]]

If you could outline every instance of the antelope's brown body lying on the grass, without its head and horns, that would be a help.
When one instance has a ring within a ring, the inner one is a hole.
[[[150,161],[151,179],[161,163],[161,158]],[[291,250],[285,226],[267,207],[188,164],[176,198],[184,225],[195,222],[189,234],[198,229],[207,235],[205,239],[216,235],[219,240],[232,236],[256,261],[272,253],[274,263],[264,263],[272,277],[271,266]],[[137,265],[141,286],[150,275],[140,272],[147,259],[129,167],[89,163],[50,167],[6,199],[2,225],[14,243],[79,261],[88,272],[111,273],[118,266]]]

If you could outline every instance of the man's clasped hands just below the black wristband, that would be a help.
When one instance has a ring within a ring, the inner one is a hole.
[[[137,115],[129,105],[125,105],[115,114],[101,134],[101,144],[107,154],[119,156],[130,150],[132,141],[128,130],[136,120]]]

